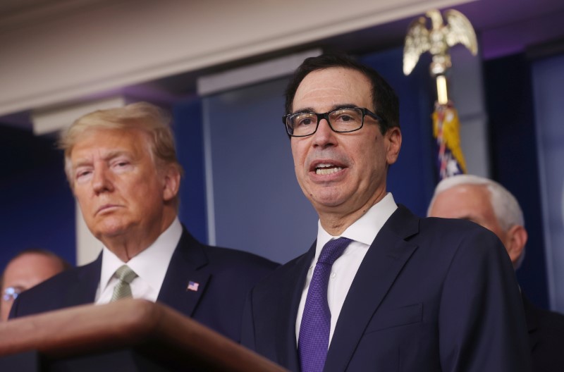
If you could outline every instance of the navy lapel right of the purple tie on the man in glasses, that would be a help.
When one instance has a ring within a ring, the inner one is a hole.
[[[405,239],[418,229],[418,218],[399,206],[376,235],[341,309],[324,371],[345,371],[347,368],[364,329],[417,249]]]

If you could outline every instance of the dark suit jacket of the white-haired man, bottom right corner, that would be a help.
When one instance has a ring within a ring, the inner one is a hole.
[[[534,372],[564,371],[564,315],[534,306],[522,293]]]

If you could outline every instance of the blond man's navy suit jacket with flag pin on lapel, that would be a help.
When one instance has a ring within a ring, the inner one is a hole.
[[[187,230],[176,247],[157,301],[239,340],[245,297],[252,285],[278,266],[262,257],[197,242]],[[11,318],[94,302],[102,254],[20,294]],[[197,291],[188,283],[200,283]]]

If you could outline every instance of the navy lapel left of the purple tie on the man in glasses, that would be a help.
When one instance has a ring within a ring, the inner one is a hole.
[[[295,342],[295,320],[302,299],[302,290],[307,277],[309,265],[315,256],[316,242],[309,251],[296,259],[294,267],[281,279],[280,306],[278,307],[278,324],[276,328],[276,352],[278,363],[290,371],[300,370],[298,345]]]

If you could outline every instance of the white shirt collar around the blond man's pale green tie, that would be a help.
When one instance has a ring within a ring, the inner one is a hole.
[[[180,242],[182,235],[182,225],[178,217],[164,233],[157,237],[153,244],[147,249],[130,259],[127,265],[143,278],[151,287],[159,292],[164,281],[164,275],[168,269],[174,249]],[[107,247],[102,249],[102,272],[100,273],[100,290],[104,290],[109,280],[114,276],[116,270],[124,264],[121,259],[111,252]]]

